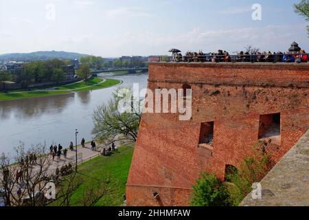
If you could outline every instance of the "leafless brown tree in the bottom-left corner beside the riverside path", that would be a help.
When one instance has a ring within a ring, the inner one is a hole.
[[[51,162],[45,146],[25,151],[21,144],[16,148],[14,162],[12,164],[8,155],[0,157],[0,187],[3,188],[5,206],[43,206],[45,186],[52,181],[48,173]]]

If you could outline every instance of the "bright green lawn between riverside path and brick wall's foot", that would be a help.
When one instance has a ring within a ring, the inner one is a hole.
[[[133,146],[121,146],[118,151],[108,157],[95,157],[78,166],[76,181],[81,179],[82,186],[71,197],[71,206],[83,206],[84,190],[91,188],[94,182],[98,180],[104,182],[106,179],[108,179],[108,193],[96,203],[96,206],[122,205],[133,150]],[[52,206],[57,206],[57,203],[53,203]]]

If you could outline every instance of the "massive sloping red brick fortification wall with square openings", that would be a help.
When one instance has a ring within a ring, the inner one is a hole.
[[[150,63],[148,89],[184,84],[192,87],[191,120],[179,121],[178,113],[142,115],[128,206],[187,205],[201,171],[223,179],[227,165],[237,167],[256,151],[261,126],[270,124],[260,123],[261,115],[280,113],[280,137],[265,146],[275,162],[309,129],[308,64]],[[204,122],[214,122],[211,147],[199,145]]]

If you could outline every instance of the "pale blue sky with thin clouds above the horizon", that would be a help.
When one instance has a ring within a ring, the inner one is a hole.
[[[300,0],[0,0],[0,54],[56,50],[103,57],[227,50],[309,51]],[[253,7],[254,6],[254,7]]]

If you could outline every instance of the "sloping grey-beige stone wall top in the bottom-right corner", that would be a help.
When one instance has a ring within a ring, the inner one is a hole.
[[[262,199],[249,193],[240,206],[309,206],[309,130],[260,184]]]

